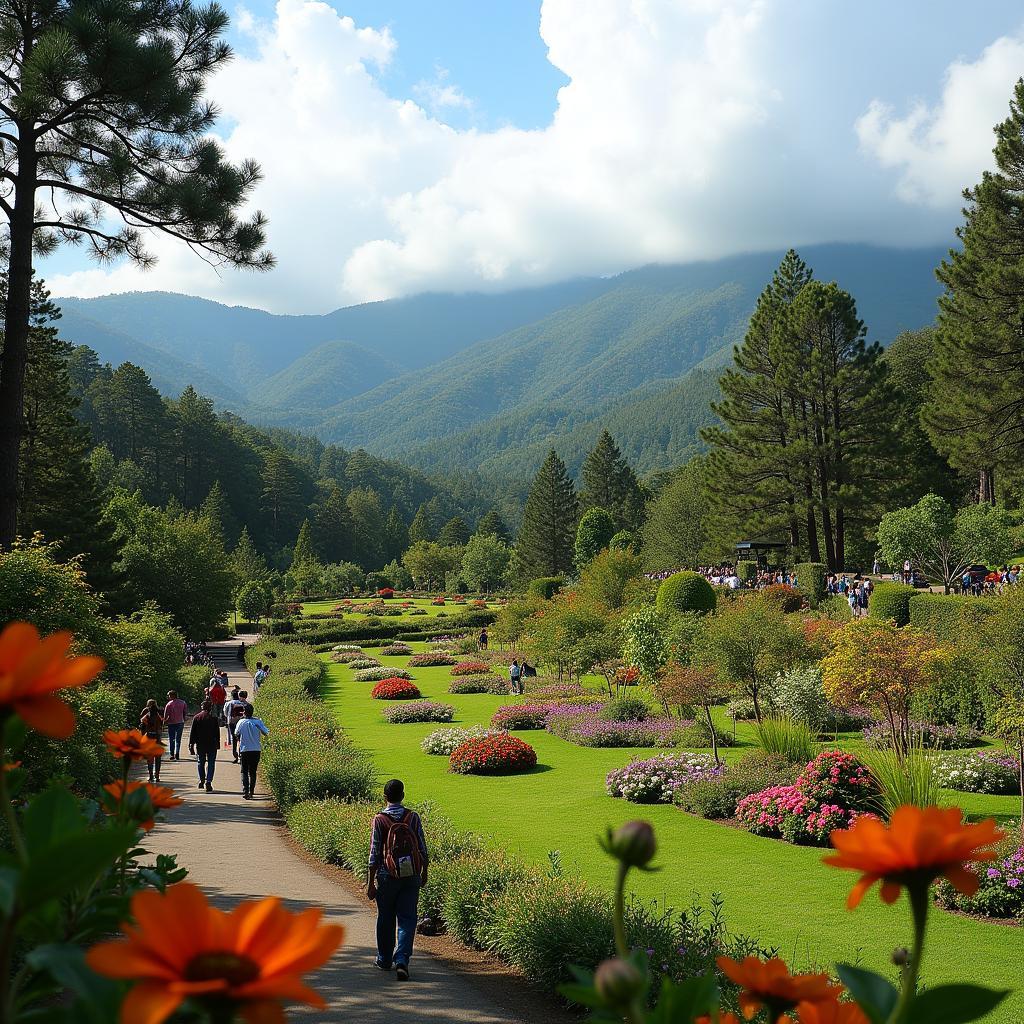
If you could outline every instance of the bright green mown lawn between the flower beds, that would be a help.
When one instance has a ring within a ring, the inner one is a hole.
[[[407,659],[382,657],[381,662],[403,666]],[[455,724],[486,723],[496,708],[511,699],[450,694],[447,668],[412,672],[424,696],[458,709]],[[411,800],[435,802],[461,827],[539,862],[546,862],[549,851],[558,850],[567,870],[610,887],[611,866],[595,837],[606,825],[647,818],[657,829],[662,870],[634,877],[636,892],[643,897],[682,907],[694,897],[707,901],[711,893],[719,892],[734,931],[777,946],[780,955],[801,967],[844,959],[885,970],[893,948],[909,944],[904,900],[886,907],[876,890],[857,910],[848,912],[845,900],[854,876],[822,866],[819,849],[761,839],[671,806],[638,806],[605,795],[604,776],[610,768],[655,751],[581,748],[546,732],[522,732],[518,735],[537,750],[532,773],[496,778],[453,775],[446,770],[447,758],[420,750],[423,736],[438,726],[385,723],[381,702],[370,697],[372,687],[352,681],[345,666],[332,664],[325,696],[349,735],[373,753],[382,778],[402,778]],[[749,740],[749,727],[741,725],[738,736]],[[842,745],[852,748],[856,742]],[[734,758],[742,750],[734,748],[725,755]],[[971,814],[1009,818],[1017,807],[1015,797],[955,794],[952,799]],[[1017,986],[1020,991],[987,1020],[1024,1021],[1024,929],[936,909],[929,946],[926,982],[970,980]]]

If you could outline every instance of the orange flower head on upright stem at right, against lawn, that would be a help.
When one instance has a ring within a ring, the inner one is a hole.
[[[825,863],[861,872],[846,901],[850,909],[880,881],[886,903],[894,902],[904,886],[927,889],[938,878],[972,896],[978,891],[978,877],[965,862],[992,860],[995,851],[985,847],[1000,839],[991,818],[965,824],[958,807],[906,805],[897,808],[888,826],[864,817],[852,828],[834,831],[831,844],[838,852],[825,857]]]

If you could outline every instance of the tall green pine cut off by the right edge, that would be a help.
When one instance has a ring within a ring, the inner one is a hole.
[[[923,419],[935,446],[995,500],[995,474],[1024,454],[1024,79],[995,127],[995,170],[965,190],[962,242],[939,267],[933,386]]]

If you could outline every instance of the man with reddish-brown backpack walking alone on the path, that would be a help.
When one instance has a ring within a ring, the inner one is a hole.
[[[427,841],[419,814],[402,804],[400,779],[385,784],[384,799],[370,837],[367,896],[377,901],[377,967],[390,971],[393,964],[398,980],[408,981],[420,889],[427,884]]]

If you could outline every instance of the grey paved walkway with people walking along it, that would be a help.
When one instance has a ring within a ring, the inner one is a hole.
[[[233,650],[237,642],[224,647]],[[252,679],[243,666],[232,660],[224,667],[231,682],[251,693]],[[378,971],[373,964],[372,906],[333,880],[330,869],[310,864],[294,850],[262,785],[254,800],[242,799],[239,766],[231,762],[229,750],[222,748],[218,755],[214,792],[200,791],[196,765],[185,760],[187,737],[186,725],[182,760],[165,760],[161,773],[161,782],[175,790],[185,803],[165,812],[165,820],[146,838],[144,846],[154,855],[177,854],[178,862],[188,868],[189,879],[218,905],[228,907],[240,899],[275,895],[292,909],[319,906],[325,920],[345,926],[343,947],[310,978],[329,1009],[295,1011],[297,1020],[512,1024],[551,1016],[543,1010],[538,1015],[536,1007],[527,1008],[536,997],[524,991],[523,983],[498,965],[488,966],[484,957],[470,965],[473,973],[465,973],[417,948],[409,982],[396,981],[393,972]]]

